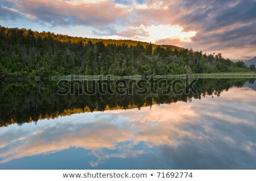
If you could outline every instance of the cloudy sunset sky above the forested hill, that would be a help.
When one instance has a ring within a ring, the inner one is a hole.
[[[0,0],[0,25],[256,56],[256,0]]]

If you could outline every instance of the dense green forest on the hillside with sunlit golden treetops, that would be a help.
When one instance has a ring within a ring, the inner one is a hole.
[[[0,75],[167,75],[255,71],[221,54],[172,45],[55,35],[0,26]]]

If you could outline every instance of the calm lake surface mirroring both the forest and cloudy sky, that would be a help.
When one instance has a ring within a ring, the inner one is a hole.
[[[199,95],[179,96],[0,87],[0,169],[256,169],[252,79],[200,79]]]

